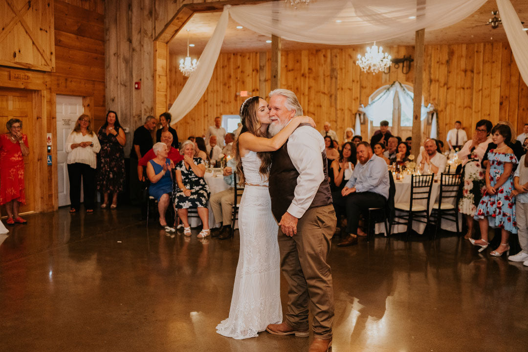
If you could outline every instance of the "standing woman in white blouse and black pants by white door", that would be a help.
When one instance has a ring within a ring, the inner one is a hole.
[[[81,204],[81,177],[84,191],[84,207],[93,212],[96,195],[96,154],[101,145],[90,128],[90,117],[82,114],[66,140],[68,152],[68,177],[70,179],[70,213],[79,210]]]

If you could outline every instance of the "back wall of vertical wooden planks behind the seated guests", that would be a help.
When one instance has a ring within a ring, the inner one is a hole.
[[[412,46],[386,48],[393,57],[413,55]],[[414,70],[401,68],[389,74],[363,73],[355,64],[363,46],[346,49],[286,51],[281,58],[281,88],[297,93],[304,112],[322,127],[329,121],[342,136],[354,126],[360,104],[384,84],[395,80],[412,86]],[[169,55],[169,101],[175,100],[186,78],[178,71],[175,55]],[[270,54],[267,55],[267,85],[270,89]],[[236,92],[259,91],[258,53],[223,53],[216,63],[208,89],[197,106],[176,124],[182,136],[201,135],[215,116],[237,114],[243,98]],[[521,130],[528,120],[528,87],[520,78],[507,43],[427,45],[423,78],[425,103],[438,110],[439,138],[444,140],[456,120],[463,121],[471,138],[475,123],[509,120]],[[362,126],[367,137],[366,125]]]

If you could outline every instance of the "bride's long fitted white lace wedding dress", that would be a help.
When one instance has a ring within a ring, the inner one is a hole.
[[[259,174],[260,159],[249,151],[242,158],[246,183],[268,185]],[[229,318],[216,332],[235,339],[257,337],[269,324],[282,321],[278,225],[271,214],[268,187],[246,185],[240,202],[240,255]]]

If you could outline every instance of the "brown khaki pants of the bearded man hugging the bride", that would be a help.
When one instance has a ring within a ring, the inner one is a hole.
[[[280,266],[288,282],[286,324],[308,329],[308,305],[312,302],[314,336],[332,338],[334,289],[326,259],[335,231],[334,207],[310,208],[297,223],[297,234],[286,236],[279,227]]]

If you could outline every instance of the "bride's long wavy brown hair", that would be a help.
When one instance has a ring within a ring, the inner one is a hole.
[[[242,129],[240,130],[239,135],[237,136],[237,139],[234,141],[235,146],[235,160],[237,161],[237,175],[240,180],[240,184],[243,185],[246,181],[246,178],[244,177],[244,170],[242,168],[242,159],[240,157],[240,147],[238,144],[238,138],[241,134],[244,132],[250,132],[251,134],[257,136],[257,137],[265,137],[269,138],[268,132],[262,133],[260,131],[260,127],[262,126],[258,117],[257,117],[257,109],[259,107],[259,101],[260,97],[251,97],[244,101],[242,105],[240,106],[240,119],[242,122]],[[257,156],[261,160],[259,172],[262,176],[268,177],[269,174],[269,167],[271,165],[271,153],[268,151],[259,151],[257,153]]]

